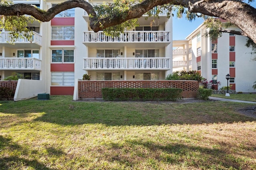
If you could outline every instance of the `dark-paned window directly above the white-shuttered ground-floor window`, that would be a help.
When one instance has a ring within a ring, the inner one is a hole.
[[[56,49],[52,50],[52,63],[73,63],[74,50]]]

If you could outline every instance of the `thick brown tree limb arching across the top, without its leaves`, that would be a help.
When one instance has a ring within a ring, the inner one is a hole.
[[[188,8],[189,12],[201,13],[208,16],[222,18],[238,26],[242,35],[256,42],[256,9],[241,2],[240,0],[143,0],[126,11],[126,15],[112,14],[106,18],[97,18],[96,12],[91,4],[84,0],[68,0],[47,11],[40,10],[28,4],[14,4],[11,6],[0,6],[0,15],[17,16],[28,14],[42,22],[48,22],[54,16],[64,10],[79,7],[90,14],[90,27],[94,32],[103,28],[121,24],[127,20],[140,18],[155,6],[173,4]],[[126,16],[126,17],[124,17]],[[114,18],[114,19],[113,19]]]

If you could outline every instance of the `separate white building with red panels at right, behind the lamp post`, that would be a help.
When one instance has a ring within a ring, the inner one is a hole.
[[[232,26],[230,29],[239,30]],[[237,92],[255,92],[252,88],[256,81],[256,61],[252,61],[252,49],[245,46],[247,38],[229,33],[223,33],[217,40],[210,40],[204,36],[208,31],[204,24],[194,30],[186,41],[173,41],[177,49],[186,49],[182,55],[176,55],[174,50],[173,61],[176,56],[188,62],[187,67],[178,70],[197,70],[207,80],[220,81],[227,86],[226,75],[230,74],[228,85]],[[189,49],[189,50],[188,50]],[[192,65],[191,65],[192,64]],[[175,67],[174,67],[175,69]]]

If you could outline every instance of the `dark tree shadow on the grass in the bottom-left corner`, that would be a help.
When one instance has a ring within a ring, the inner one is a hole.
[[[2,150],[2,154],[6,153],[6,155],[0,155],[0,169],[7,170],[7,169],[26,169],[26,168],[33,168],[33,169],[42,169],[42,170],[55,170],[52,168],[47,168],[46,165],[38,162],[35,158],[33,158],[33,154],[38,154],[37,150],[28,150],[27,148],[22,147],[21,145],[12,142],[10,138],[4,138],[0,135],[0,150]],[[49,155],[56,150],[52,150],[50,148]],[[29,156],[29,152],[32,155]],[[61,151],[58,151],[58,153]],[[30,157],[30,158],[24,158]]]

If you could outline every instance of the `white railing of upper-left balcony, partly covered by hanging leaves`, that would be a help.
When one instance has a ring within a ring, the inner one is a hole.
[[[18,38],[13,43],[38,43],[42,45],[42,36],[36,32],[33,32],[32,40],[29,41],[27,38]],[[10,32],[1,32],[0,33],[0,43],[10,43],[11,37]]]

